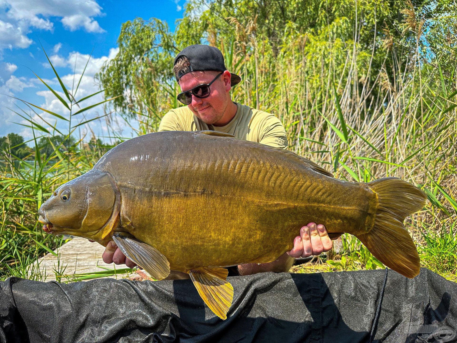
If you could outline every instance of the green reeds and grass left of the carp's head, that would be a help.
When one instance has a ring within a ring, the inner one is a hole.
[[[50,61],[49,64],[53,68]],[[29,153],[26,159],[12,153],[17,146],[24,145],[22,137],[9,134],[7,139],[3,139],[3,144],[8,144],[8,154],[11,151],[11,156],[8,155],[0,164],[0,279],[10,275],[33,279],[42,277],[42,273],[32,262],[45,253],[54,253],[53,249],[59,247],[63,241],[61,237],[48,235],[41,229],[37,222],[38,209],[53,190],[90,170],[101,154],[109,148],[108,145],[99,145],[101,141],[97,139],[84,145],[82,137],[76,139],[73,135],[80,126],[102,117],[86,119],[83,116],[85,111],[97,104],[82,107],[82,103],[97,93],[79,100],[75,98],[84,71],[78,83],[75,83],[72,89],[66,89],[54,68],[53,70],[65,98],[59,96],[41,78],[37,78],[64,104],[68,113],[53,113],[21,100],[28,112],[20,107],[19,112],[13,112],[27,121],[27,124],[23,125],[32,130],[34,137],[30,142],[32,148],[27,147]],[[46,122],[34,108],[51,114],[56,122]],[[43,127],[35,118],[41,118],[52,127],[52,131]],[[62,124],[68,125],[65,133],[59,129]]]

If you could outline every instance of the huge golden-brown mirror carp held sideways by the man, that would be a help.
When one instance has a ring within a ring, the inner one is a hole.
[[[92,170],[60,186],[40,208],[43,229],[122,252],[155,279],[189,273],[225,319],[233,288],[222,267],[276,260],[300,227],[349,232],[388,267],[413,278],[416,247],[404,228],[424,194],[408,182],[335,179],[290,151],[214,131],[129,139]]]

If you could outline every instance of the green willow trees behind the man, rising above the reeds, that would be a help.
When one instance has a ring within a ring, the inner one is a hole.
[[[156,129],[159,118],[179,106],[173,57],[194,43],[217,46],[228,69],[242,75],[235,100],[276,111],[285,103],[286,112],[308,100],[324,106],[331,84],[338,86],[350,73],[356,98],[380,77],[394,87],[394,74],[417,64],[416,55],[435,58],[432,50],[442,45],[437,32],[455,33],[455,18],[447,16],[451,5],[448,0],[191,0],[175,32],[155,18],[124,23],[119,53],[97,76],[106,97],[123,95],[113,102],[118,111],[142,117],[143,132]],[[356,68],[348,68],[348,60]],[[306,90],[291,87],[293,82],[306,82],[319,94],[297,97]]]

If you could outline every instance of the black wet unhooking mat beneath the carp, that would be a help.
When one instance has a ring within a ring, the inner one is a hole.
[[[422,268],[231,277],[227,320],[190,280],[0,283],[1,342],[456,342],[457,284]]]

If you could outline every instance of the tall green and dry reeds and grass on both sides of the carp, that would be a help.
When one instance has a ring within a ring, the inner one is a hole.
[[[361,51],[356,40],[352,46],[344,46],[334,39],[321,44],[314,54],[298,53],[293,45],[303,42],[291,41],[279,48],[272,65],[262,42],[251,35],[210,43],[221,48],[228,69],[242,77],[243,82],[232,91],[234,101],[275,113],[287,129],[290,150],[316,161],[340,179],[369,182],[393,176],[421,188],[429,201],[407,219],[406,226],[420,247],[423,266],[456,279],[456,234],[451,228],[457,220],[453,193],[457,182],[457,64],[446,64],[443,72],[439,58],[431,65],[418,52],[406,63],[395,64],[393,70],[386,70],[383,64],[374,71],[373,55]],[[341,46],[338,53],[335,45]],[[246,47],[252,53],[246,53]],[[391,48],[385,53],[386,59],[404,60]],[[60,80],[57,73],[56,78]],[[73,109],[89,97],[76,101],[72,95],[76,91],[66,90],[59,83],[64,96],[54,95],[66,103],[69,113],[51,114],[57,121],[68,123],[69,136],[88,123],[81,118],[72,124],[72,118],[84,112]],[[167,90],[160,108],[178,106],[174,81],[158,87]],[[30,123],[34,139],[29,143],[35,145],[35,151],[29,156],[32,163],[11,155],[3,167],[1,278],[25,276],[25,266],[61,243],[59,238],[43,235],[37,226],[37,209],[53,189],[89,170],[100,156],[100,151],[83,148],[84,137],[64,152],[56,146],[53,154],[41,155],[37,139],[62,132],[57,130],[58,125],[51,125],[52,132],[42,127],[31,115],[37,114],[33,111],[36,106],[23,103],[27,110],[16,112]],[[124,118],[137,134],[154,130],[165,114],[148,109],[148,115],[134,113],[134,119]],[[112,117],[105,120],[110,125]],[[112,136],[120,135],[113,132]],[[333,267],[380,266],[355,237],[345,240],[348,251]]]

